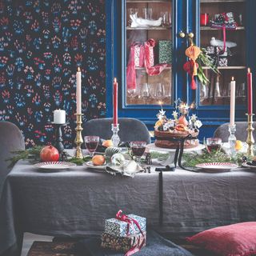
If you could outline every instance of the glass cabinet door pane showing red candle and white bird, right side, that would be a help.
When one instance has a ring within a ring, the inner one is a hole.
[[[200,105],[230,104],[230,81],[236,81],[236,104],[246,103],[246,1],[201,0],[200,44],[213,59],[220,74],[204,66],[209,79],[200,84]],[[226,27],[224,29],[223,27]],[[224,49],[224,42],[226,48]]]

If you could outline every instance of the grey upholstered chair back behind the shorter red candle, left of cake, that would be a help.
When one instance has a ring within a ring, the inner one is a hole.
[[[110,139],[112,136],[111,123],[112,118],[91,119],[83,126],[83,135],[96,135],[103,139]],[[119,132],[121,142],[145,141],[151,142],[149,130],[146,125],[135,118],[118,118]]]

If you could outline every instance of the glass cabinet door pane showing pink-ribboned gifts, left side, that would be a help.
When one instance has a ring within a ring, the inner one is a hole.
[[[170,105],[172,1],[126,0],[126,106]]]

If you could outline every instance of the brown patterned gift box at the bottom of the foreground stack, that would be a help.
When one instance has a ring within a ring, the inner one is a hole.
[[[135,234],[126,237],[118,237],[104,232],[102,233],[101,246],[102,248],[126,253],[134,246],[146,246],[146,232],[143,232],[143,235]]]

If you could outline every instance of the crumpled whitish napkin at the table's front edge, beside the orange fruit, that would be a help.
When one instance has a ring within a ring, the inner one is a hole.
[[[142,166],[139,166],[134,160],[130,160],[124,166],[106,166],[106,172],[110,174],[122,174],[123,176],[134,177],[135,174],[144,171]]]

